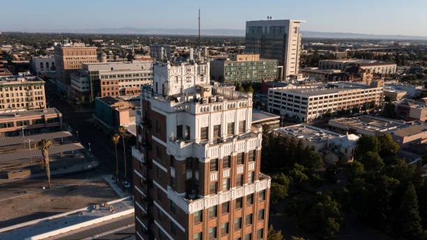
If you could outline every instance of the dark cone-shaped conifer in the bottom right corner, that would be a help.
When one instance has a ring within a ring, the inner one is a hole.
[[[393,229],[396,234],[407,239],[422,239],[423,228],[419,216],[418,198],[414,185],[407,186],[402,202],[396,213]]]

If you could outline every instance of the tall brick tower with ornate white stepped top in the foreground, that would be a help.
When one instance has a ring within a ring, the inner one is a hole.
[[[252,94],[209,85],[209,65],[155,64],[133,147],[137,239],[267,239],[271,179]]]

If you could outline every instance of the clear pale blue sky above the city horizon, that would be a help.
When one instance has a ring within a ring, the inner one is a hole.
[[[248,20],[306,20],[302,31],[427,36],[426,0],[15,0],[1,3],[0,31],[245,29]]]

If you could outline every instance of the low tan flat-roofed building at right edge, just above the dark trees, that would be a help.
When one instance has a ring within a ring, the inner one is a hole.
[[[394,142],[400,146],[423,144],[427,141],[427,123],[411,123],[409,126],[391,132]]]

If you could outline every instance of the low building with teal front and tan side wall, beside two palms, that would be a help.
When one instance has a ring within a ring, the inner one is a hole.
[[[110,96],[95,99],[95,116],[107,127],[118,128],[135,122],[134,106]]]

